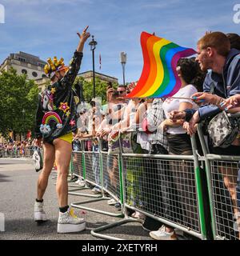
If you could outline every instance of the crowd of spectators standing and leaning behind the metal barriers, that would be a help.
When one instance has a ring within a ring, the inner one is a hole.
[[[136,130],[136,128],[140,127],[145,130],[145,133],[137,131],[135,134],[134,132],[131,133],[134,153],[193,154],[190,136],[196,132],[196,124],[198,122],[210,120],[222,110],[227,112],[239,111],[239,50],[240,37],[238,34],[206,33],[198,42],[197,58],[181,58],[178,61],[177,72],[182,86],[178,93],[174,95],[174,98],[127,99],[124,96],[134,89],[136,83],[130,83],[128,86],[118,86],[117,90],[109,85],[106,91],[107,107],[105,110],[102,110],[98,99],[94,98],[90,102],[90,110],[82,109],[80,112],[81,122],[78,124],[79,130],[78,134],[75,134],[74,141],[86,138],[101,138],[104,145],[103,148],[106,148],[109,153],[114,153],[114,150],[116,150],[116,145],[114,147],[114,144],[116,144],[119,130],[124,134],[126,130]],[[99,150],[97,139],[92,142],[85,142],[84,145],[85,150],[94,152]],[[234,153],[234,155],[240,155],[239,136],[227,148],[211,145],[210,139],[208,140],[208,146],[210,153],[224,155],[232,155]],[[92,161],[95,182],[99,185],[94,187],[93,191],[101,193],[99,159],[94,157]],[[136,161],[134,165],[139,166],[138,161]],[[108,177],[104,177],[106,184],[118,186],[114,180],[117,164],[116,159],[108,157]],[[152,184],[152,186],[162,190],[160,192],[163,200],[161,203],[159,202],[161,209],[159,206],[156,208],[157,211],[172,212],[173,209],[169,209],[167,202],[170,200],[178,201],[180,198],[178,210],[180,209],[185,213],[184,216],[190,219],[191,228],[194,228],[197,225],[198,213],[195,212],[194,205],[191,203],[194,200],[191,198],[191,194],[196,192],[193,191],[194,180],[191,178],[193,170],[184,165],[177,169],[174,168],[174,171],[171,165],[167,166],[165,170],[162,170],[159,166],[155,167],[153,163],[148,171],[157,170],[157,173],[151,172],[152,181],[158,183]],[[131,206],[144,208],[144,205],[148,203],[154,204],[159,200],[154,198],[155,195],[150,193],[149,189],[142,186],[142,180],[144,181],[144,177],[147,176],[144,169],[143,166],[137,172],[126,170],[126,192],[129,200],[127,203]],[[160,174],[161,171],[164,174]],[[222,181],[230,194],[233,206],[231,211],[233,211],[234,218],[239,220],[239,202],[236,193],[238,170],[233,170],[233,167],[226,166],[226,168],[219,168],[218,171],[222,175]],[[159,177],[165,177],[165,180],[157,181],[157,177],[158,179]],[[170,177],[171,180],[167,180],[167,177]],[[190,184],[190,181],[193,184]],[[169,187],[166,190],[166,184],[173,184],[174,187]],[[173,191],[176,194],[176,198],[172,198]],[[145,196],[142,196],[142,194]],[[114,204],[114,200],[110,200],[109,203]],[[148,219],[138,211],[132,213],[131,216],[133,218]],[[160,229],[156,230],[159,225]],[[176,239],[174,228],[171,226],[155,222],[152,230],[154,230],[150,232],[152,238],[161,240]]]

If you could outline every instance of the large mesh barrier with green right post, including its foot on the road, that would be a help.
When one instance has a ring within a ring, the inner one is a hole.
[[[151,155],[126,154],[120,144],[122,187],[125,218],[98,227],[91,234],[98,238],[119,239],[105,234],[126,222],[139,222],[130,218],[127,209],[136,210],[174,228],[206,239],[206,216],[202,196],[202,182],[195,138],[191,138],[194,154]]]

